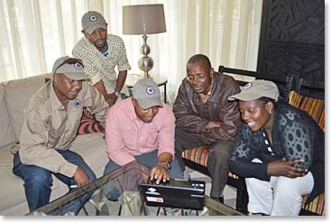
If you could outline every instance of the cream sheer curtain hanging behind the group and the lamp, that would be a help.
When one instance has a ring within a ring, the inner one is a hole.
[[[164,5],[167,32],[149,35],[147,43],[150,73],[168,79],[170,103],[194,54],[206,54],[216,70],[256,70],[262,0],[1,0],[0,81],[51,72],[54,60],[71,56],[88,10],[104,14],[108,32],[124,39],[128,74],[142,73],[143,38],[122,32],[122,6],[140,4]]]

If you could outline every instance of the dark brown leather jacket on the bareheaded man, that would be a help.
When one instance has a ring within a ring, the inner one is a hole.
[[[215,143],[217,140],[234,141],[241,120],[237,102],[228,101],[227,97],[239,93],[239,85],[232,77],[218,72],[214,72],[213,84],[211,95],[204,104],[186,79],[182,81],[172,109],[176,116],[176,126],[188,133],[200,135],[200,141],[204,144]],[[207,131],[209,121],[221,122],[221,127]]]

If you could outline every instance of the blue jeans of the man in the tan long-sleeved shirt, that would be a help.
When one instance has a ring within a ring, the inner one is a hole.
[[[68,162],[78,165],[80,168],[86,171],[87,176],[91,181],[97,179],[95,173],[87,166],[87,163],[84,162],[83,158],[78,155],[78,153],[74,153],[69,150],[57,150],[57,152],[60,153]],[[19,152],[14,154],[13,172],[15,175],[21,177],[24,181],[23,186],[25,190],[25,197],[28,202],[30,211],[41,208],[50,202],[51,186],[53,183],[51,174],[54,174],[59,180],[68,186],[74,182],[73,178],[69,178],[63,174],[53,173],[35,165],[23,164],[21,162]],[[69,189],[69,192],[72,192],[73,190],[75,189]],[[85,204],[92,194],[93,192],[88,192],[85,194],[81,198],[82,203]],[[81,203],[78,199],[76,199],[63,207],[63,213],[71,211],[77,215],[81,207]],[[60,212],[53,212],[51,214],[58,213]]]

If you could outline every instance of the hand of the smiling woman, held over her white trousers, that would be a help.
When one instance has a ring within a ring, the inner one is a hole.
[[[297,162],[303,162],[302,159],[293,160],[293,161],[286,161],[284,158],[275,161],[275,162],[269,162],[267,173],[271,176],[283,176],[283,177],[289,177],[289,178],[297,178],[305,176],[308,172],[307,169],[304,168],[296,168],[293,165]]]

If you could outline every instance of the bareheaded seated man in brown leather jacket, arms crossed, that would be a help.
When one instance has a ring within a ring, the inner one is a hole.
[[[228,101],[227,97],[240,89],[232,77],[215,72],[210,60],[202,54],[188,60],[187,73],[173,105],[176,156],[184,171],[180,153],[207,145],[207,168],[212,177],[210,197],[219,201],[227,181],[234,135],[241,124],[237,103]]]

